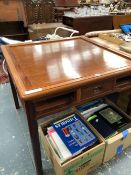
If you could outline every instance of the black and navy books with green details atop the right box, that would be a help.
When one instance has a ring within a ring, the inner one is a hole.
[[[97,111],[87,120],[105,139],[121,132],[122,128],[130,122],[128,118],[111,106]]]

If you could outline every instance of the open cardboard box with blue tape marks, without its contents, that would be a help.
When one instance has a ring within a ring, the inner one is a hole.
[[[118,106],[116,106],[113,102],[111,102],[109,99],[104,99],[104,101],[110,106],[117,109],[124,117],[127,117],[130,120],[130,117],[125,112],[123,112]],[[94,128],[94,131],[95,131],[95,134],[98,133],[98,131],[95,128]],[[119,131],[116,135],[113,135],[108,139],[104,139],[104,141],[105,141],[106,147],[105,147],[103,163],[109,161],[115,155],[120,154],[125,148],[131,146],[131,122],[129,122],[129,124],[124,126],[121,129],[121,132]]]

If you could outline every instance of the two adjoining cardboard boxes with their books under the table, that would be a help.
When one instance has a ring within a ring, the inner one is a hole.
[[[131,145],[131,120],[109,99],[51,118],[39,133],[57,175],[86,175]]]

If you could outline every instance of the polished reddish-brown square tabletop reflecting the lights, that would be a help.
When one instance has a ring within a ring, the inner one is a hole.
[[[6,62],[24,100],[127,72],[131,62],[84,37],[3,46]],[[58,88],[58,89],[57,89]]]

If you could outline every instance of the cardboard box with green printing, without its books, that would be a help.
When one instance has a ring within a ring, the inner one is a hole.
[[[39,135],[42,147],[45,149],[49,160],[52,162],[54,170],[57,175],[86,175],[92,169],[95,169],[103,162],[103,156],[105,152],[105,142],[96,133],[99,139],[99,144],[93,148],[82,152],[81,154],[73,157],[72,159],[61,163],[58,155],[54,151],[46,136],[46,128],[48,124],[41,124],[39,127]],[[94,131],[92,126],[89,124],[89,128]]]

